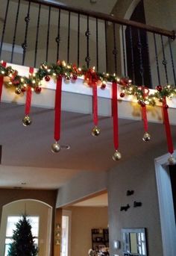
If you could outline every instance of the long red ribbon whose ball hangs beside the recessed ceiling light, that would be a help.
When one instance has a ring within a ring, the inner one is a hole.
[[[61,94],[62,94],[62,76],[57,77],[55,94],[55,119],[54,119],[54,139],[60,140],[60,116],[61,116]]]

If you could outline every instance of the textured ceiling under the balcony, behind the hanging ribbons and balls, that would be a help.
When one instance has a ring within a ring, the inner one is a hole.
[[[1,103],[0,144],[2,159],[0,187],[57,188],[81,170],[101,172],[118,162],[112,160],[113,126],[110,117],[100,117],[101,135],[91,136],[92,116],[80,113],[62,113],[60,145],[71,149],[51,153],[54,143],[54,111],[31,108],[33,124],[22,125],[24,106]],[[119,150],[122,161],[131,157],[145,157],[152,147],[166,145],[163,125],[149,125],[152,140],[142,142],[142,122],[119,120]],[[172,134],[176,134],[172,127]],[[163,154],[167,147],[163,149]]]

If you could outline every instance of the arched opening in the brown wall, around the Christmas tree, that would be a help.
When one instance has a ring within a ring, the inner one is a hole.
[[[12,232],[12,230],[9,230],[11,227],[14,228],[14,219],[18,222],[17,219],[19,219],[22,214],[26,214],[29,218],[35,219],[34,225],[38,225],[38,234],[35,234],[35,236],[37,237],[39,246],[39,256],[49,256],[51,254],[52,207],[34,199],[18,200],[3,206],[0,229],[0,255],[4,256],[7,254],[7,243],[10,241],[9,234]]]

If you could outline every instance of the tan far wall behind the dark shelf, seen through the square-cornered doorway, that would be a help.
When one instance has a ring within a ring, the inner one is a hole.
[[[107,207],[69,207],[72,211],[71,256],[88,255],[92,228],[107,228]]]

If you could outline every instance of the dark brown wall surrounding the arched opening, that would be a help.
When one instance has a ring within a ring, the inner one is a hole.
[[[54,213],[55,213],[55,202],[56,202],[57,190],[14,190],[14,189],[1,189],[0,190],[0,219],[2,208],[4,205],[9,204],[22,199],[34,199],[44,202],[53,208],[52,211],[52,231],[54,231]],[[33,207],[32,207],[33,208]],[[37,206],[37,210],[40,207]],[[46,217],[46,216],[45,216]],[[53,255],[53,232],[51,232],[51,255]],[[45,256],[45,255],[43,255]]]

